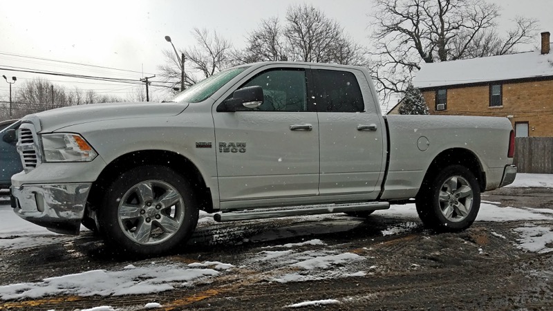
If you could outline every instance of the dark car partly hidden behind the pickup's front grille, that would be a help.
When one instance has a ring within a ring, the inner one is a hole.
[[[21,122],[17,120],[13,121],[12,124],[0,129],[0,189],[9,189],[10,185],[12,185],[12,175],[23,171],[21,158],[19,158],[17,149],[15,149],[17,140],[9,139],[10,132],[12,132],[10,130],[19,128]]]

